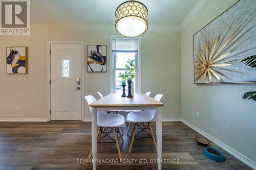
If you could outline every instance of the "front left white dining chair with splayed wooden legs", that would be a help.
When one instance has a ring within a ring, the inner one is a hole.
[[[92,114],[92,107],[90,107],[90,104],[95,102],[96,99],[92,95],[87,95],[84,97],[84,99],[86,99],[86,101],[89,105],[90,113]],[[105,136],[110,137],[108,135],[110,132],[104,132],[103,127],[111,128],[111,132],[113,131],[115,139],[112,139],[111,137],[110,138],[115,141],[118,156],[119,156],[119,159],[121,160],[122,156],[121,156],[119,143],[118,143],[118,139],[117,139],[117,133],[119,134],[119,136],[123,142],[123,138],[119,131],[119,127],[125,127],[124,116],[120,115],[120,114],[107,114],[107,113],[103,113],[102,111],[98,111],[97,112],[97,126],[99,127],[98,133],[97,133],[97,142],[98,143]],[[104,134],[104,136],[103,136],[103,134]],[[92,158],[92,151],[88,155],[88,160],[90,160],[91,158]]]

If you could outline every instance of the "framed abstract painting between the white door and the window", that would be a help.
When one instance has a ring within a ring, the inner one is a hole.
[[[106,45],[87,45],[87,71],[106,72]]]

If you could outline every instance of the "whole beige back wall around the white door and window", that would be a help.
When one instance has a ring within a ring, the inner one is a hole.
[[[163,93],[163,117],[180,117],[180,25],[150,25],[141,38],[141,91]],[[113,24],[32,24],[30,36],[0,36],[0,119],[47,118],[47,42],[84,41],[110,44],[116,35]],[[6,74],[6,46],[28,46],[28,74]],[[108,72],[91,73],[85,91],[98,98],[110,92],[110,55]],[[86,67],[85,67],[86,69]],[[20,106],[20,112],[16,111]],[[85,104],[84,118],[90,118]]]

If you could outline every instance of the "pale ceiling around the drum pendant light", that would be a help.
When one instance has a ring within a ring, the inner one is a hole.
[[[31,23],[114,23],[126,0],[30,0]],[[141,0],[150,22],[181,22],[198,0]]]

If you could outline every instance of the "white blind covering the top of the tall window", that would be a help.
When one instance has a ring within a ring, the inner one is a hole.
[[[138,38],[112,39],[112,51],[138,51]]]

